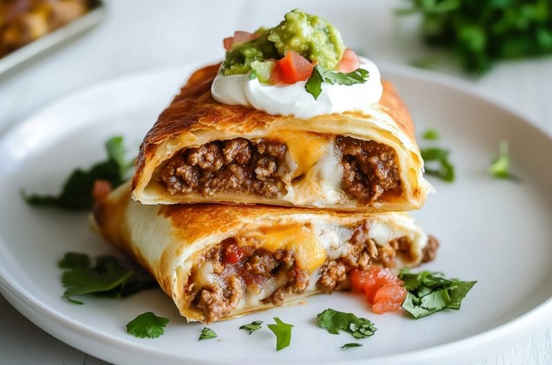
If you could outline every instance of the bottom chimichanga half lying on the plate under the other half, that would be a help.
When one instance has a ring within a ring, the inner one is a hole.
[[[188,321],[226,320],[349,289],[371,264],[433,258],[437,242],[407,213],[233,205],[139,205],[128,185],[97,202],[92,224],[155,277]]]

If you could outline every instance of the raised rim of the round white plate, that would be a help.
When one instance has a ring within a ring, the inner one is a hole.
[[[20,132],[26,124],[31,123],[35,118],[40,118],[43,114],[48,114],[50,110],[64,105],[66,103],[71,103],[72,101],[86,96],[86,94],[93,94],[97,90],[101,90],[103,87],[108,87],[108,85],[122,85],[128,83],[132,79],[143,79],[143,78],[152,78],[159,76],[161,74],[169,72],[182,72],[183,74],[190,74],[192,70],[199,67],[197,65],[206,65],[205,60],[199,62],[189,61],[182,63],[178,66],[173,67],[156,67],[149,70],[143,70],[141,72],[130,72],[128,74],[123,74],[121,76],[100,81],[98,83],[93,83],[86,87],[67,94],[66,96],[61,96],[57,101],[49,103],[45,107],[33,112],[26,118],[23,118],[22,121],[11,125],[7,130],[0,132],[0,145],[5,143],[6,140],[9,140],[15,134]],[[397,74],[398,76],[403,76],[410,79],[417,79],[419,81],[430,82],[438,84],[442,87],[449,87],[455,91],[460,91],[469,96],[479,98],[482,101],[497,107],[507,114],[517,118],[526,125],[530,125],[535,128],[540,134],[546,136],[549,140],[549,143],[552,143],[552,132],[549,132],[547,129],[544,129],[542,125],[536,123],[531,116],[524,115],[523,113],[514,110],[513,107],[504,103],[503,101],[498,100],[492,96],[489,92],[481,90],[477,85],[459,79],[455,76],[450,76],[447,74],[442,74],[439,72],[434,72],[431,70],[421,70],[410,65],[402,65],[399,63],[386,63],[380,62],[380,70],[382,74],[390,73]],[[3,245],[2,245],[3,246]],[[3,247],[0,246],[0,251],[4,251]],[[117,362],[121,359],[120,356],[115,355],[113,352],[98,353],[95,351],[97,344],[101,346],[113,346],[114,344],[119,345],[121,351],[132,351],[132,357],[142,357],[144,355],[159,355],[157,360],[164,362],[174,362],[175,360],[179,361],[193,361],[195,363],[201,364],[213,364],[213,362],[205,361],[204,359],[199,359],[195,357],[181,357],[177,355],[172,355],[169,353],[164,353],[163,351],[144,348],[144,346],[139,346],[132,342],[126,342],[121,340],[120,337],[114,337],[107,335],[101,331],[97,331],[94,328],[88,326],[83,326],[79,321],[73,320],[63,313],[52,309],[50,306],[44,304],[37,298],[35,298],[31,293],[24,289],[17,281],[12,280],[9,275],[6,275],[5,269],[0,267],[0,293],[8,300],[10,305],[14,306],[17,311],[23,314],[28,318],[33,324],[39,326],[43,331],[49,333],[50,335],[56,337],[58,340],[69,344],[72,347],[79,349],[85,353],[90,353],[91,355],[97,356],[101,359],[106,359],[110,362]],[[23,305],[24,308],[19,306]],[[521,315],[495,326],[487,331],[477,333],[468,337],[464,337],[460,340],[454,340],[452,342],[447,342],[445,344],[440,344],[437,346],[431,346],[428,348],[423,348],[415,351],[406,351],[397,355],[384,355],[379,357],[369,357],[364,359],[349,359],[345,360],[347,364],[366,364],[366,362],[375,363],[375,364],[406,364],[413,361],[426,361],[432,362],[438,360],[444,356],[449,356],[451,353],[460,353],[466,348],[474,348],[475,346],[482,346],[486,344],[495,344],[495,346],[490,346],[491,348],[504,348],[506,344],[496,346],[496,342],[504,340],[508,337],[513,337],[513,333],[517,333],[518,337],[520,333],[526,333],[529,329],[535,329],[543,327],[546,321],[542,321],[544,317],[552,317],[552,296],[544,300],[538,306],[535,306],[533,309],[522,313]],[[54,331],[52,328],[49,328],[46,325],[43,325],[43,321],[53,322],[55,326],[64,328],[67,333],[65,335],[59,333],[52,333]],[[77,340],[72,340],[70,336],[71,333],[77,333],[78,335],[87,335],[90,339],[89,342],[77,342]],[[107,341],[107,342],[106,342]],[[465,351],[464,351],[465,352]],[[127,360],[130,359],[126,358]],[[454,360],[451,360],[454,361]],[[456,360],[457,361],[457,360]],[[265,360],[267,363],[273,363],[270,360]],[[303,362],[308,364],[311,362]],[[322,362],[317,361],[318,364],[329,364],[331,360],[323,360]],[[235,362],[228,362],[228,364],[235,364]]]

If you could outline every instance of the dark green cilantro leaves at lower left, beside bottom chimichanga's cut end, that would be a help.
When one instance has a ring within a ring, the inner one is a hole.
[[[75,295],[124,298],[157,285],[155,280],[140,278],[138,273],[108,255],[98,256],[95,267],[92,267],[85,253],[68,252],[58,262],[58,267],[64,269],[61,275],[61,284],[66,288],[63,298],[75,304],[83,304],[72,298]]]

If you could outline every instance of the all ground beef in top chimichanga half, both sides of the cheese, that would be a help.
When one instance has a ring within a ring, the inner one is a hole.
[[[398,160],[391,147],[373,140],[334,138],[342,156],[341,189],[349,198],[372,205],[400,194]],[[286,189],[278,171],[287,150],[284,143],[263,139],[215,140],[175,154],[161,167],[159,180],[170,194],[240,192],[280,198]]]

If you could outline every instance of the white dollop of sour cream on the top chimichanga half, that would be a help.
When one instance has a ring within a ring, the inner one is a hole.
[[[348,111],[367,112],[370,105],[382,98],[380,70],[375,63],[360,58],[360,68],[368,70],[365,83],[337,85],[322,83],[318,98],[305,89],[306,81],[290,85],[268,85],[258,79],[249,79],[249,74],[217,74],[211,94],[219,103],[244,105],[264,110],[268,114],[295,116],[308,119],[322,114]]]

